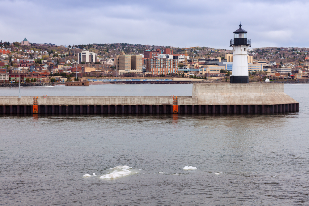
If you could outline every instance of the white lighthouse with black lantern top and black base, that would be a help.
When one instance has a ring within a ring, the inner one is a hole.
[[[241,28],[234,32],[234,39],[230,40],[230,47],[233,47],[233,69],[231,84],[248,84],[248,47],[251,47],[251,40],[247,39],[247,33]]]

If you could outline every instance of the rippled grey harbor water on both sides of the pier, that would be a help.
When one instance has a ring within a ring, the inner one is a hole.
[[[284,87],[299,112],[1,115],[0,205],[308,205],[309,84]],[[20,92],[176,96],[192,95],[192,85]],[[18,87],[0,95],[17,96]]]

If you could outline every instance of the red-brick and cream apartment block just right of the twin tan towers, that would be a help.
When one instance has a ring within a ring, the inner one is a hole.
[[[146,72],[151,74],[170,74],[178,73],[178,60],[177,59],[145,59]]]

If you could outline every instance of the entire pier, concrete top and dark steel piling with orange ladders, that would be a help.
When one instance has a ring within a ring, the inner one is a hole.
[[[283,84],[193,84],[192,96],[0,97],[0,114],[214,114],[299,111]],[[36,99],[36,98],[35,98]],[[37,109],[36,109],[37,105]],[[35,110],[34,110],[35,108]]]

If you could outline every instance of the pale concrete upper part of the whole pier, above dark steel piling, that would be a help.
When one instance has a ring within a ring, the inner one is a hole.
[[[298,103],[283,84],[193,84],[192,96],[178,96],[178,105],[278,105]],[[33,105],[33,97],[2,96],[0,105]],[[171,96],[48,96],[38,105],[173,105]]]

